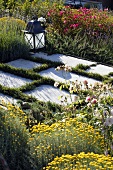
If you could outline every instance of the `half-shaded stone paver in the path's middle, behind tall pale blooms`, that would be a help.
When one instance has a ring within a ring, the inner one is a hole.
[[[88,84],[95,84],[95,82],[99,82],[97,80],[94,80],[92,78],[84,77],[84,76],[79,76],[74,73],[70,72],[65,72],[65,71],[56,71],[55,68],[49,68],[47,70],[41,71],[39,73],[41,76],[44,77],[49,77],[54,79],[55,81],[60,81],[60,82],[66,82],[66,80],[70,81],[78,81],[78,82],[83,82],[84,80],[88,81]]]

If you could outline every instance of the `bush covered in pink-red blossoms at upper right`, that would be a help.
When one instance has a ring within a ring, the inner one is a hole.
[[[109,19],[108,12],[98,9],[80,8],[72,10],[70,7],[60,9],[54,5],[48,11],[52,27],[61,35],[75,36],[79,30],[91,36],[108,35],[113,31],[113,20]]]

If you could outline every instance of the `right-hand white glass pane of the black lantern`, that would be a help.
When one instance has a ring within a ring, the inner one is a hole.
[[[45,46],[45,35],[44,33],[39,33],[35,35],[35,48],[43,48]]]

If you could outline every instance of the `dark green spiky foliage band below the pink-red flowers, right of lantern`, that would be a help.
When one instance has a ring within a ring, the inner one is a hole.
[[[89,38],[86,33],[81,36],[79,31],[74,37],[71,35],[59,35],[54,30],[47,34],[46,52],[48,54],[63,53],[66,55],[79,56],[92,61],[113,65],[112,37],[106,39]]]

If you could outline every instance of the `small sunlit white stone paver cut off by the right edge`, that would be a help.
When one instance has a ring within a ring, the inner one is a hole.
[[[87,72],[91,72],[91,73],[98,73],[101,75],[107,75],[110,72],[113,72],[113,67],[108,67],[102,64],[98,64],[95,67],[90,67],[90,69],[87,70]]]

